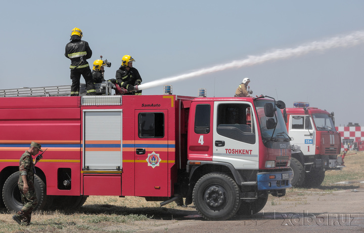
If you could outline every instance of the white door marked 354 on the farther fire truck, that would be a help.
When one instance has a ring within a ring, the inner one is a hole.
[[[312,129],[312,120],[309,115],[290,116],[289,135],[293,140],[291,144],[301,147],[304,155],[315,154],[315,131]]]

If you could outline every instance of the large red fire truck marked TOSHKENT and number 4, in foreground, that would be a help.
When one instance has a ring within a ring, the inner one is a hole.
[[[255,214],[292,186],[277,105],[172,94],[1,98],[2,204],[21,208],[19,158],[35,141],[48,148],[35,167],[38,210],[107,195],[194,203],[208,220]]]

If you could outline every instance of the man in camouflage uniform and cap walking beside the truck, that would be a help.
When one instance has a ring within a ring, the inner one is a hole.
[[[23,208],[13,216],[13,220],[19,224],[30,224],[31,213],[38,204],[34,189],[34,165],[42,156],[37,156],[35,163],[33,163],[32,156],[36,156],[39,151],[43,151],[41,145],[31,142],[29,149],[23,153],[19,161],[18,187],[21,193]]]

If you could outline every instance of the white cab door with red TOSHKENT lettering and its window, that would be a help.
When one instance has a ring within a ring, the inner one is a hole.
[[[213,161],[236,169],[259,168],[259,143],[254,111],[249,102],[215,102]]]

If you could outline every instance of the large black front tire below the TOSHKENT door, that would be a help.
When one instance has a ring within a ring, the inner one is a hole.
[[[192,193],[197,212],[207,220],[226,220],[240,207],[239,187],[228,175],[209,173],[196,183]]]

